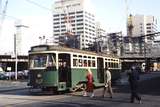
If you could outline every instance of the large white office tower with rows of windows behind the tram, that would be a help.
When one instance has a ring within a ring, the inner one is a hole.
[[[80,48],[88,48],[96,38],[94,9],[90,0],[58,0],[53,11],[53,40],[60,44],[60,38],[67,30],[79,36]],[[66,23],[67,22],[67,23]]]

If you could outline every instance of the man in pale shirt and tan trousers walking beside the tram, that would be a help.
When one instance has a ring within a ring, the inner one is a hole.
[[[105,68],[104,82],[105,82],[105,86],[103,89],[103,97],[105,97],[105,92],[107,90],[107,92],[110,94],[110,98],[112,98],[113,91],[112,91],[112,86],[111,86],[111,72],[109,71],[108,67]]]

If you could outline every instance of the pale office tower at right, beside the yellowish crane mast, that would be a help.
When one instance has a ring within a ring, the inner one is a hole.
[[[154,16],[135,15],[132,16],[132,36],[141,36],[155,33],[157,31],[157,20]]]

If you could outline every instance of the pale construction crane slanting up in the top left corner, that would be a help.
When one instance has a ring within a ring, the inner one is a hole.
[[[0,3],[1,3],[1,4],[0,4],[1,8],[0,8],[0,9],[2,9],[2,0],[0,1]],[[0,14],[1,14],[1,20],[0,20],[0,35],[1,35],[1,32],[2,32],[3,22],[4,22],[4,19],[5,19],[5,16],[6,16],[7,5],[8,5],[8,0],[6,0],[3,10],[0,11]]]

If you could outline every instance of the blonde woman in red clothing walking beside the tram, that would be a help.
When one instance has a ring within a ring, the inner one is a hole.
[[[87,75],[86,75],[87,83],[86,83],[86,90],[83,96],[88,96],[94,97],[94,79],[93,79],[93,74],[90,68],[87,69]]]

